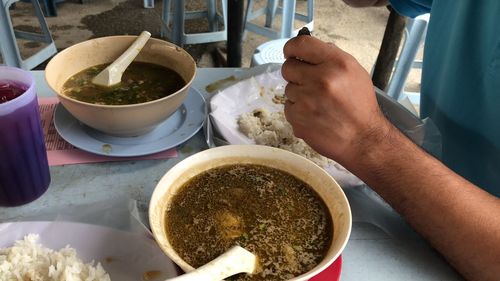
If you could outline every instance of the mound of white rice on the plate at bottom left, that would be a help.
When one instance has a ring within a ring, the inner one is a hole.
[[[76,250],[43,247],[37,234],[0,249],[0,281],[110,281],[100,263],[83,263]]]

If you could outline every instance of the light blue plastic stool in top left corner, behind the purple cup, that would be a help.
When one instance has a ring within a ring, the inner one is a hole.
[[[45,22],[38,0],[31,0],[31,3],[33,4],[36,17],[40,23],[41,33],[14,30],[10,19],[9,7],[17,1],[18,0],[2,0],[3,5],[0,11],[0,51],[5,64],[30,70],[56,54],[57,48],[50,34],[49,27]],[[19,52],[16,38],[43,42],[48,45],[29,58],[23,59]]]

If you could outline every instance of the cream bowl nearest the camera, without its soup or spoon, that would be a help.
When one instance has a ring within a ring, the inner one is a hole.
[[[312,270],[292,280],[308,280],[331,265],[342,253],[351,233],[352,216],[347,198],[322,168],[294,153],[260,145],[228,145],[208,149],[184,159],[170,169],[156,186],[149,205],[149,222],[163,251],[184,271],[193,270],[175,252],[165,231],[167,206],[180,187],[203,171],[227,164],[260,164],[286,171],[308,183],[325,202],[334,225],[325,258]]]

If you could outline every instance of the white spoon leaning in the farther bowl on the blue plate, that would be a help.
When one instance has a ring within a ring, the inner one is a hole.
[[[130,47],[128,47],[128,49],[121,54],[120,57],[118,57],[112,64],[108,65],[108,67],[92,79],[92,83],[104,87],[110,87],[120,83],[123,72],[139,54],[142,47],[146,45],[146,42],[148,42],[150,37],[151,33],[147,31],[141,32],[137,39],[135,39],[134,43],[132,43],[132,45],[130,45]]]

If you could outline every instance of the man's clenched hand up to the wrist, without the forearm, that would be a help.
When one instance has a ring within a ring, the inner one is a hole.
[[[285,116],[297,137],[347,166],[363,147],[384,138],[391,125],[370,76],[351,55],[310,36],[291,39],[284,53]]]

